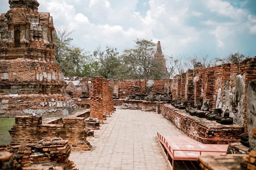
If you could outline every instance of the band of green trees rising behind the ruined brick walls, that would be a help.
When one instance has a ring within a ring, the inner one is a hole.
[[[53,34],[56,62],[65,76],[94,77],[114,79],[162,79],[172,78],[196,67],[210,67],[224,63],[241,61],[244,54],[230,53],[220,58],[208,54],[165,56],[166,68],[155,58],[157,44],[145,39],[136,39],[133,48],[120,54],[116,48],[106,45],[103,50],[98,46],[93,53],[72,44],[69,27],[57,28]],[[249,57],[249,56],[248,56]]]

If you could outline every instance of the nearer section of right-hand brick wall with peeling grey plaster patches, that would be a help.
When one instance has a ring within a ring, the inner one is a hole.
[[[204,92],[204,99],[211,100],[210,109],[229,109],[234,122],[244,125],[247,131],[246,89],[248,82],[256,78],[255,65],[254,57],[237,63],[194,69],[193,85],[196,99]]]

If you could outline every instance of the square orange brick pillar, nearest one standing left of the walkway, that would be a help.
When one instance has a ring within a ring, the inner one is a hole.
[[[90,117],[98,118],[103,123],[103,78],[94,77],[91,80]]]

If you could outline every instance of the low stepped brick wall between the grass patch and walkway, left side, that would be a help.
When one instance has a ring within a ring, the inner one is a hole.
[[[43,137],[61,137],[68,139],[73,150],[90,150],[86,140],[88,129],[85,125],[88,115],[89,111],[79,112],[44,122],[42,117],[18,116],[9,131],[12,136],[11,145],[37,143]]]

